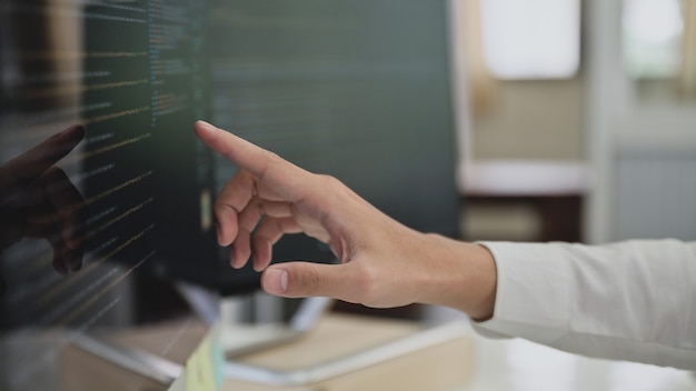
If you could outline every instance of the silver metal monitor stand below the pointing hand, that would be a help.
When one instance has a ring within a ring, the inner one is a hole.
[[[210,302],[209,298],[196,300],[198,294],[206,292],[197,292],[199,288],[182,285],[180,290],[195,308],[195,302]],[[210,325],[215,324],[216,320],[219,320],[218,324],[222,324],[220,342],[227,358],[223,368],[226,378],[281,388],[307,385],[340,374],[356,372],[438,344],[456,341],[468,333],[465,323],[458,321],[422,327],[408,335],[401,335],[395,340],[299,370],[279,370],[248,364],[238,360],[249,352],[277,347],[309,334],[334,302],[332,299],[328,298],[304,299],[290,320],[280,322],[272,319],[274,314],[282,312],[276,307],[278,301],[274,299],[278,298],[266,295],[266,293],[247,300],[239,298],[220,299],[220,304],[215,307],[220,309],[220,313],[216,315],[206,315],[202,312],[206,307],[198,305],[197,311],[201,319],[209,317],[208,319],[212,320]],[[243,319],[243,314],[248,313],[256,313],[256,318],[261,318],[261,321],[249,322],[249,319]],[[175,382],[170,391],[179,390],[178,387],[181,382],[182,380],[178,379],[179,385]]]

